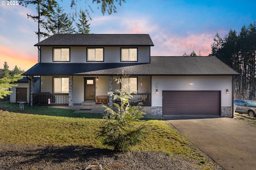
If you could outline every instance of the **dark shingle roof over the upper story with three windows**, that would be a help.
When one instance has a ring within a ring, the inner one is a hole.
[[[148,34],[56,34],[35,46],[154,46]]]

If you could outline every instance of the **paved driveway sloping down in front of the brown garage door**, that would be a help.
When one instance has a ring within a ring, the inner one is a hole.
[[[256,127],[226,117],[165,117],[225,170],[256,169]]]

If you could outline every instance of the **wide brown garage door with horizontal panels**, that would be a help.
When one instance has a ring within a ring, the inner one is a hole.
[[[220,91],[163,91],[163,115],[220,115]]]

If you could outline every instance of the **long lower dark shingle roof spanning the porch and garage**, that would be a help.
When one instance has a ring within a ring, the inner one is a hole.
[[[216,57],[151,57],[151,63],[38,63],[23,75],[239,75]]]

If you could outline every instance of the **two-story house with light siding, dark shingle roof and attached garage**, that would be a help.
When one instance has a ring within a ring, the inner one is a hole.
[[[39,63],[23,74],[31,82],[32,105],[96,102],[122,88],[113,77],[124,71],[127,91],[138,91],[131,104],[143,102],[152,115],[233,115],[233,79],[239,74],[216,57],[151,57],[148,34],[59,34],[35,46]],[[40,76],[37,94],[34,76]]]

